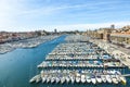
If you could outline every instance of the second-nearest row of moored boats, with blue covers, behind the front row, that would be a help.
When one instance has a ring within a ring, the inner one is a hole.
[[[102,61],[43,61],[37,67],[123,67],[120,62]]]

